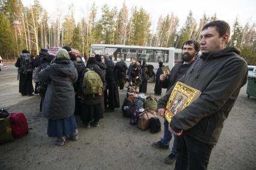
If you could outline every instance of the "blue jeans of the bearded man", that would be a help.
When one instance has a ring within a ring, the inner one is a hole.
[[[163,126],[164,126],[163,138],[161,138],[160,142],[163,145],[169,145],[173,134],[171,132],[169,132],[169,130],[168,130],[169,123],[166,119],[164,119],[164,121],[163,121]],[[173,142],[173,146],[171,149],[171,153],[174,154],[175,156],[177,156],[177,149],[176,149],[177,148],[177,136],[176,135],[173,135],[173,136],[174,136],[174,142]]]

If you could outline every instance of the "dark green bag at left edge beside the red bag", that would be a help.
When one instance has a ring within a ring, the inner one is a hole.
[[[0,119],[0,144],[13,141],[13,133],[11,132],[10,116]]]

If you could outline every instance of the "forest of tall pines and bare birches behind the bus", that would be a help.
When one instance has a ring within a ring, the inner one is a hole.
[[[95,4],[91,5],[87,17],[76,21],[74,5],[69,6],[66,16],[58,15],[50,19],[46,9],[38,0],[30,7],[24,7],[21,0],[0,0],[0,55],[3,59],[14,59],[23,49],[37,55],[40,48],[69,45],[81,54],[90,53],[91,44],[123,44],[152,47],[181,48],[186,40],[200,40],[203,26],[218,17],[203,14],[197,21],[188,11],[186,22],[179,26],[178,16],[173,13],[160,16],[156,31],[151,30],[150,14],[142,7],[121,9],[103,5],[99,13]],[[241,50],[248,65],[256,65],[255,23],[241,25],[236,17],[231,25],[231,40]]]

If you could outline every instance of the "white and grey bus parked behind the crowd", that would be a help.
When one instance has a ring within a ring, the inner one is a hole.
[[[181,61],[181,49],[174,47],[144,47],[136,45],[111,45],[111,44],[91,44],[91,54],[107,54],[114,62],[118,62],[121,57],[130,65],[132,59],[145,59],[147,65],[154,66],[154,75],[148,82],[154,81],[159,61],[171,69],[175,63]]]

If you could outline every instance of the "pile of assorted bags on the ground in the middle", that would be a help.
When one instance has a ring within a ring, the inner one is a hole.
[[[136,86],[127,87],[127,98],[122,105],[123,117],[130,117],[130,125],[137,125],[141,130],[150,128],[151,133],[161,130],[160,120],[156,117],[157,99],[154,95],[139,93]]]

